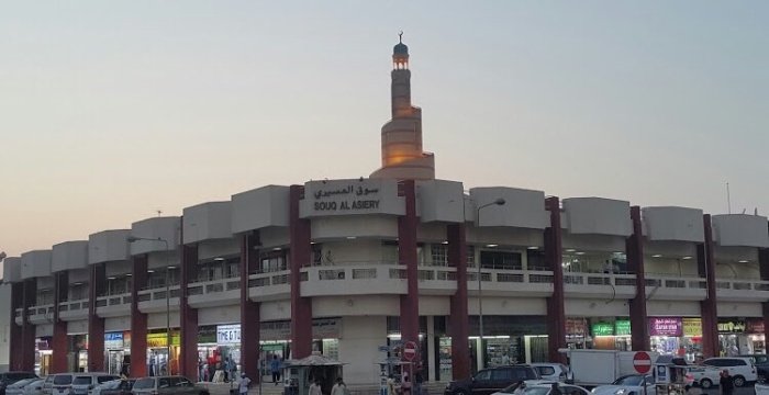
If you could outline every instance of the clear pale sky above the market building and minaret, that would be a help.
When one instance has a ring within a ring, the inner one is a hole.
[[[390,56],[437,177],[769,213],[767,1],[3,1],[0,250],[368,176]]]

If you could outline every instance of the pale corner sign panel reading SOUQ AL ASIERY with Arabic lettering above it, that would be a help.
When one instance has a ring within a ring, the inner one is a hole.
[[[405,214],[404,199],[398,195],[398,182],[384,179],[307,182],[299,210],[301,217]]]

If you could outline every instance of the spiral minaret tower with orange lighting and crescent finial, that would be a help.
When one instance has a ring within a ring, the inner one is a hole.
[[[409,47],[403,32],[392,48],[392,120],[382,126],[382,167],[371,178],[435,179],[435,157],[422,150],[422,109],[411,105]]]

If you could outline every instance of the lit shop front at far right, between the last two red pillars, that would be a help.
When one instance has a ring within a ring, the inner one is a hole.
[[[718,318],[718,342],[725,357],[766,353],[764,319]]]

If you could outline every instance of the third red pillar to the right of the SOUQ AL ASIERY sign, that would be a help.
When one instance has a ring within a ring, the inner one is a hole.
[[[566,363],[566,356],[558,352],[559,349],[566,348],[564,256],[558,198],[548,198],[545,207],[550,212],[550,226],[545,229],[545,261],[553,270],[553,296],[547,298],[547,353],[550,361]]]

